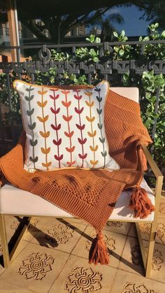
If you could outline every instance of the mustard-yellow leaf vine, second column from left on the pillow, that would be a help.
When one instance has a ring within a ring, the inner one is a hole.
[[[39,107],[42,108],[42,117],[37,116],[38,120],[43,123],[43,131],[39,131],[40,135],[44,138],[45,141],[45,148],[41,148],[41,152],[45,155],[45,163],[42,163],[43,167],[46,168],[46,170],[49,170],[49,167],[51,166],[52,162],[48,162],[48,153],[50,152],[50,148],[47,146],[46,138],[50,136],[50,131],[46,131],[45,122],[48,121],[49,115],[44,115],[43,108],[47,105],[48,101],[43,101],[43,95],[46,94],[47,90],[38,91],[38,94],[41,94],[41,101],[37,101],[37,104]]]

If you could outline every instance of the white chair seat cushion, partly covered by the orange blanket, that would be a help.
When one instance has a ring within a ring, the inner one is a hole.
[[[155,196],[144,179],[141,183],[141,187],[145,188],[152,204],[155,205]],[[136,222],[137,220],[152,221],[154,218],[153,212],[145,219],[134,218],[134,213],[128,208],[130,196],[130,191],[126,190],[122,192],[115,204],[113,213],[110,215],[110,220],[124,220],[130,222]],[[0,213],[9,215],[73,217],[61,208],[46,201],[41,196],[20,190],[9,183],[4,185],[0,190]]]

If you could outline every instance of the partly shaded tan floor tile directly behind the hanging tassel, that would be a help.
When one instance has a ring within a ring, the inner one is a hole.
[[[126,241],[126,236],[117,233],[115,234],[107,230],[103,230],[103,235],[104,241],[106,242],[106,246],[108,248],[108,253],[110,255],[110,266],[117,268],[120,262],[122,250],[124,248],[124,243]],[[88,259],[92,239],[95,236],[96,231],[92,227],[88,226],[71,254]]]

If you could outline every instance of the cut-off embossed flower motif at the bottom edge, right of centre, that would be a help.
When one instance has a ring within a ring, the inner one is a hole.
[[[145,285],[136,285],[135,283],[127,282],[124,285],[124,290],[121,293],[156,293],[154,290],[150,290]]]

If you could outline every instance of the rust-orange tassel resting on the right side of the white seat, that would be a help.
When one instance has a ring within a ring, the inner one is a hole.
[[[141,219],[148,217],[155,210],[155,206],[152,205],[147,192],[140,185],[134,187],[129,201],[129,208],[134,210],[134,217],[140,217]]]

